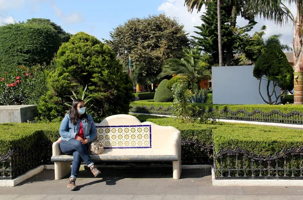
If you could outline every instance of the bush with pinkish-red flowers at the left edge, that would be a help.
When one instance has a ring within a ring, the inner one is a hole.
[[[51,70],[51,67],[17,66],[13,73],[5,73],[0,77],[0,105],[37,104],[40,96],[48,90],[46,70]]]

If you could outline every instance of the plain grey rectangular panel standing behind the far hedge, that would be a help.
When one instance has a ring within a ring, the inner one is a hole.
[[[213,104],[266,104],[259,94],[260,81],[252,75],[253,70],[254,65],[213,66]],[[261,94],[268,101],[266,87],[267,80],[262,80]],[[280,88],[275,90],[279,95]],[[272,83],[269,91],[273,91]]]

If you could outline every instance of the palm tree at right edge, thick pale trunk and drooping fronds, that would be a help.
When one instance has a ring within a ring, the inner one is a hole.
[[[296,5],[296,18],[284,3]],[[248,0],[248,9],[257,16],[272,20],[282,26],[292,22],[293,34],[293,58],[294,58],[294,104],[303,104],[303,1],[302,0]]]

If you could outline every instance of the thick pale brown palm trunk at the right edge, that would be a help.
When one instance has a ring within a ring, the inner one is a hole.
[[[303,104],[303,45],[302,45],[302,16],[301,6],[297,5],[297,16],[294,21],[294,36],[293,36],[293,70],[294,70],[294,104]]]

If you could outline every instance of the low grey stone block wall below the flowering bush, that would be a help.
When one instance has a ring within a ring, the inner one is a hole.
[[[36,105],[0,106],[0,123],[27,122],[37,116]]]

